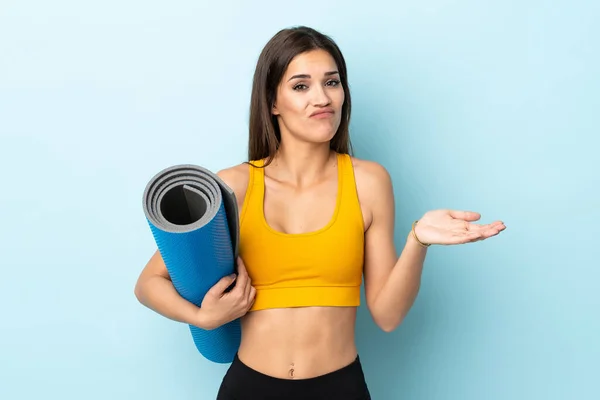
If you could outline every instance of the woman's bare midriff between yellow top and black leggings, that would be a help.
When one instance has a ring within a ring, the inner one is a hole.
[[[282,379],[333,372],[356,359],[356,307],[300,307],[252,311],[242,318],[239,358]]]

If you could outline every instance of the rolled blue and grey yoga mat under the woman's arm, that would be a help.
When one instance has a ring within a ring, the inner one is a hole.
[[[236,270],[239,211],[234,192],[205,168],[176,165],[148,182],[143,202],[175,289],[200,306],[206,292]],[[189,328],[206,359],[233,361],[241,340],[239,319],[213,330]]]

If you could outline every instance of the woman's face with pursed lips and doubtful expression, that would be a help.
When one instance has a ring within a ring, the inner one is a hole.
[[[282,138],[323,143],[330,141],[340,125],[344,89],[336,63],[325,50],[296,56],[277,89],[273,114]]]

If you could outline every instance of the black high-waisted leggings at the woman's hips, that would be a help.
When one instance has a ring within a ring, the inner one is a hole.
[[[371,400],[358,356],[351,364],[308,379],[282,379],[258,372],[235,356],[217,400]]]

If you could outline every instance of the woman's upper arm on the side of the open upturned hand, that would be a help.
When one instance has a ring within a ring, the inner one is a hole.
[[[361,204],[369,217],[364,274],[367,306],[371,308],[398,259],[394,244],[395,204],[387,170],[374,162],[361,164],[356,182]]]

